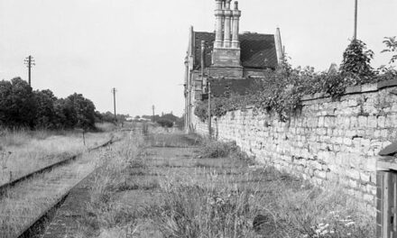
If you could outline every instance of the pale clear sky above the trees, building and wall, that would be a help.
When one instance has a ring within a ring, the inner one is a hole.
[[[241,32],[282,32],[291,64],[339,64],[353,35],[354,0],[240,0]],[[397,0],[358,0],[357,38],[387,64],[383,37],[397,35]],[[183,114],[189,26],[213,32],[215,0],[0,0],[0,80],[27,79],[56,96],[75,92],[100,112]]]

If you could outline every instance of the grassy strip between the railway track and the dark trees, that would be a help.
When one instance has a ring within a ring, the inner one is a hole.
[[[0,185],[65,160],[111,138],[112,124],[98,124],[98,132],[0,129]]]

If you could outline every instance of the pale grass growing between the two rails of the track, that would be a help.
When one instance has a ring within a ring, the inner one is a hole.
[[[95,169],[99,151],[84,153],[68,166],[23,181],[0,195],[0,237],[16,237],[70,188]]]

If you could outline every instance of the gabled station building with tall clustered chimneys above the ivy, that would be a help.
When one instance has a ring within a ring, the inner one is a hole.
[[[241,11],[238,2],[216,0],[215,32],[189,30],[189,48],[185,58],[185,125],[192,131],[194,105],[211,88],[243,91],[250,78],[263,77],[263,70],[275,69],[283,57],[280,31],[276,34],[239,32]],[[213,86],[213,87],[212,87]]]

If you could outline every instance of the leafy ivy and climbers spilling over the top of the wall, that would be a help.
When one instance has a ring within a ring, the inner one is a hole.
[[[390,46],[386,43],[390,51],[397,49],[394,40],[395,38],[389,39]],[[211,100],[211,116],[222,116],[245,105],[254,105],[256,109],[275,113],[281,121],[286,121],[300,111],[302,96],[326,93],[337,99],[345,93],[346,87],[375,83],[397,76],[371,67],[374,52],[367,50],[363,41],[351,41],[343,57],[339,71],[333,73],[315,72],[309,67],[292,69],[284,58],[278,69],[264,71],[263,78],[254,81],[247,95],[228,92]],[[395,73],[395,70],[392,72]],[[202,121],[208,119],[207,100],[196,103],[195,114]]]

